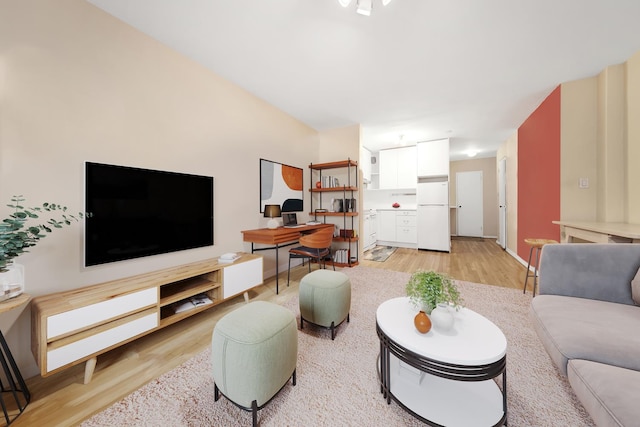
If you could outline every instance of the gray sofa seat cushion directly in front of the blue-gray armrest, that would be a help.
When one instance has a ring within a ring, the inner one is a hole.
[[[531,301],[530,314],[547,353],[564,375],[570,359],[640,370],[640,307],[539,295]]]

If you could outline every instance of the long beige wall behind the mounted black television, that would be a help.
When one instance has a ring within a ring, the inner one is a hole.
[[[303,168],[306,183],[319,144],[315,130],[82,0],[0,3],[1,217],[14,194],[81,210],[85,161],[215,177],[213,247],[84,268],[74,225],[19,258],[34,296],[250,250],[241,230],[266,225],[259,159]],[[264,255],[268,276],[274,254]],[[28,309],[0,317],[27,377],[29,325]]]

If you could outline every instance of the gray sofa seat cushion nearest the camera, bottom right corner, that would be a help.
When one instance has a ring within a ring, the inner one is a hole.
[[[633,426],[640,420],[640,372],[587,360],[568,365],[569,383],[595,423]]]

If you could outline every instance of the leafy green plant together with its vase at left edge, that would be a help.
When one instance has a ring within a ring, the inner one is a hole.
[[[77,215],[68,214],[66,206],[55,203],[26,207],[22,204],[24,201],[23,196],[13,196],[12,203],[7,205],[13,209],[13,213],[0,222],[0,301],[17,297],[24,292],[24,267],[13,263],[14,258],[28,252],[27,248],[35,246],[54,228],[63,228],[71,225],[71,221],[90,216],[82,212]],[[60,215],[58,218],[41,220],[44,221],[41,224],[28,224],[29,220],[38,220],[39,215],[45,212],[60,212]]]

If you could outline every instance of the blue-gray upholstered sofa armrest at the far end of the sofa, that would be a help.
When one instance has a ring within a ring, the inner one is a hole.
[[[633,304],[631,280],[640,267],[640,244],[545,245],[540,258],[540,294]]]

